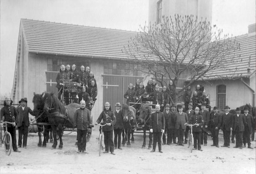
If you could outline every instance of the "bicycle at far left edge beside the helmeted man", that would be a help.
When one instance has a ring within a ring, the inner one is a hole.
[[[12,142],[12,136],[11,136],[10,132],[7,131],[7,123],[12,124],[11,122],[1,122],[0,123],[0,130],[1,130],[1,133],[0,133],[1,145],[0,145],[0,147],[2,147],[2,143],[4,142],[4,151],[5,151],[6,155],[9,156],[12,151],[13,142]],[[3,139],[2,139],[2,126],[5,127]]]

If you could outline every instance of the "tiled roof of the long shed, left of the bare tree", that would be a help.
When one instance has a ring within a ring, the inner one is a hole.
[[[137,32],[21,19],[29,52],[127,58],[122,52]]]

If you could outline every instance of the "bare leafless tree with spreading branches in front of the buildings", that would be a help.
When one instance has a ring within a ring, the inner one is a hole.
[[[123,52],[129,63],[138,64],[140,71],[153,75],[162,87],[172,80],[176,90],[185,74],[188,83],[176,90],[173,103],[176,94],[179,96],[194,81],[211,77],[216,70],[231,71],[225,64],[239,49],[236,38],[224,35],[207,19],[192,15],[162,19],[159,24],[140,26],[140,32],[124,46]]]

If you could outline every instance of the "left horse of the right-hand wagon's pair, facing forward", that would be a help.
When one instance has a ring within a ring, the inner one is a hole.
[[[136,110],[133,106],[128,106],[128,104],[123,104],[122,107],[123,112],[123,122],[124,129],[122,131],[122,146],[124,146],[127,141],[127,146],[130,147],[130,135],[132,135],[131,142],[134,143],[134,129],[136,128]],[[133,129],[134,128],[134,129]]]

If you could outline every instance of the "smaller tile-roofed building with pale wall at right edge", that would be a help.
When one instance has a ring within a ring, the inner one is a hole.
[[[231,109],[249,103],[255,106],[256,90],[256,27],[255,23],[248,26],[248,34],[236,36],[240,50],[236,51],[235,63],[227,64],[232,71],[216,70],[192,85],[195,90],[200,84],[208,94],[210,105],[223,109],[228,105]],[[231,61],[230,61],[231,62]],[[213,78],[222,75],[221,78]],[[207,81],[207,82],[206,82]]]

